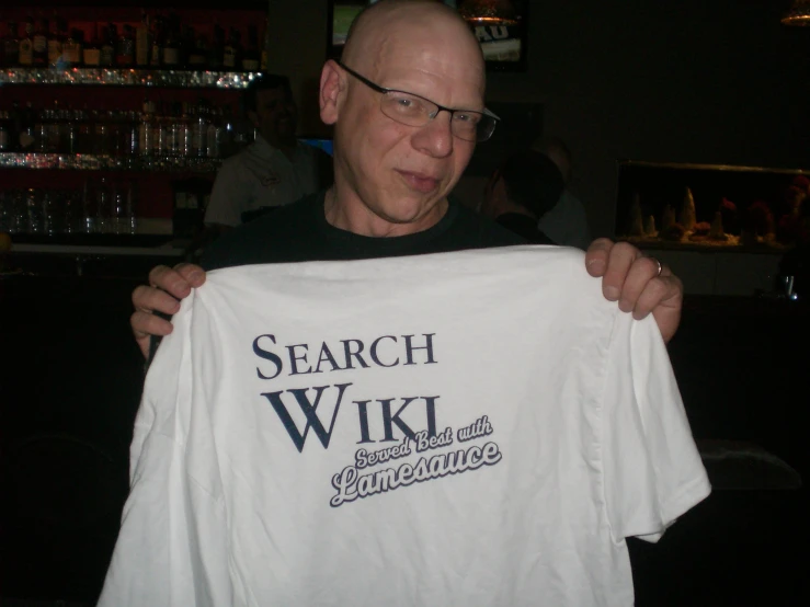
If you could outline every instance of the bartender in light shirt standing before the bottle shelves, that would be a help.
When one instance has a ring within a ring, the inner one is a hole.
[[[217,173],[205,211],[208,238],[331,185],[329,156],[296,138],[298,108],[287,77],[259,75],[244,107],[258,135]]]

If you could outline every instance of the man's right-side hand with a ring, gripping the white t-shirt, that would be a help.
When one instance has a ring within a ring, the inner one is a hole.
[[[585,253],[591,276],[602,277],[602,293],[609,301],[618,301],[619,310],[642,319],[652,312],[664,342],[669,342],[681,323],[684,286],[672,271],[627,242],[600,238]]]

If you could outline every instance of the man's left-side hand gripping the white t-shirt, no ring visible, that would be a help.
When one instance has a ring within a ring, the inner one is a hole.
[[[135,312],[129,318],[135,341],[144,358],[149,355],[149,339],[168,335],[172,324],[153,312],[173,314],[180,310],[180,300],[189,297],[191,289],[205,283],[205,272],[198,265],[181,263],[173,268],[159,265],[149,273],[149,286],[141,285],[133,291]]]

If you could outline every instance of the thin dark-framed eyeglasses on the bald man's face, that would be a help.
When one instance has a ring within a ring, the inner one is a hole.
[[[465,141],[486,141],[492,137],[495,125],[500,119],[489,110],[475,112],[472,110],[453,110],[434,103],[429,99],[406,91],[386,89],[375,84],[356,71],[349,69],[343,64],[338,64],[366,87],[378,93],[383,93],[379,108],[389,118],[408,126],[424,126],[440,112],[448,112],[450,115],[450,133]]]

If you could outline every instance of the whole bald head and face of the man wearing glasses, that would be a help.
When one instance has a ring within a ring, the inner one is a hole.
[[[476,147],[453,118],[484,111],[478,41],[441,2],[381,0],[352,24],[341,64],[321,72],[321,119],[334,125],[327,220],[365,236],[434,226]],[[420,114],[423,124],[402,113],[430,104],[442,111]]]

